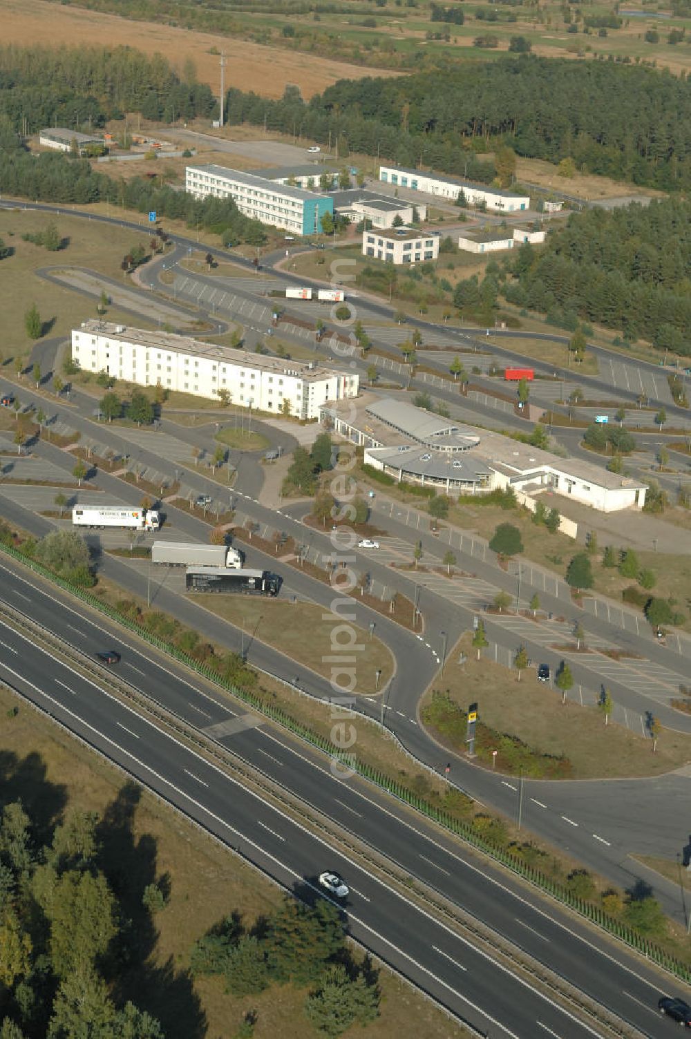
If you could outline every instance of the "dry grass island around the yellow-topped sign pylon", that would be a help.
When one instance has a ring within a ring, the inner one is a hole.
[[[665,729],[653,753],[653,741],[619,725],[605,727],[600,711],[567,700],[537,681],[534,669],[516,673],[487,660],[476,660],[471,635],[448,656],[435,688],[449,690],[464,709],[478,702],[479,718],[493,728],[517,736],[542,753],[564,754],[579,779],[660,775],[691,762],[691,737]],[[458,664],[459,650],[467,656]],[[427,702],[430,693],[423,699]],[[463,749],[463,748],[458,748]],[[497,767],[502,763],[498,760]]]

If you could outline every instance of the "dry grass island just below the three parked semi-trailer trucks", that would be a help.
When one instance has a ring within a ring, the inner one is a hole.
[[[334,623],[322,619],[324,610],[312,603],[288,603],[281,600],[251,598],[246,595],[194,596],[203,606],[224,620],[285,652],[300,667],[309,667],[330,678],[331,663],[327,658],[342,654],[331,646]],[[394,671],[394,660],[387,646],[377,638],[370,641],[367,632],[353,625],[357,635],[355,674],[356,693],[374,693],[374,672],[381,671],[378,688],[382,689]],[[297,672],[296,672],[297,673]]]

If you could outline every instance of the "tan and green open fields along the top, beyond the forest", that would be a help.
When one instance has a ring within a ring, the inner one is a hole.
[[[427,0],[324,4],[323,8],[317,3],[308,11],[301,5],[291,10],[287,4],[278,12],[272,5],[265,9],[262,3],[250,9],[230,3],[219,10],[205,4],[171,7],[161,0],[138,5],[96,0],[89,7],[100,9],[87,12],[55,0],[51,6],[52,12],[46,16],[38,15],[48,7],[42,0],[22,6],[18,0],[4,0],[6,39],[29,43],[38,38],[38,17],[44,31],[46,23],[50,24],[52,38],[70,43],[90,43],[107,27],[112,43],[136,43],[149,53],[161,51],[174,64],[191,57],[200,79],[208,83],[217,82],[217,58],[209,51],[218,48],[221,39],[230,58],[227,84],[268,97],[283,94],[287,83],[296,83],[310,97],[337,79],[363,75],[363,68],[378,75],[382,69],[415,70],[421,61],[491,58],[515,50],[511,37],[516,35],[542,57],[612,55],[649,62],[675,75],[691,68],[686,37],[691,19],[659,8],[656,2],[631,9],[599,3],[584,10],[569,8],[566,14],[556,0],[502,7],[478,3],[457,8],[462,24],[432,21],[432,4]],[[132,19],[130,28],[128,22],[109,14],[124,11]],[[197,31],[204,29],[211,31]],[[263,59],[271,62],[270,81],[262,71]]]

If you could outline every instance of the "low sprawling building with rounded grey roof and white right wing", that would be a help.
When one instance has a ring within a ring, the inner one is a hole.
[[[365,392],[347,409],[325,404],[321,420],[365,447],[365,461],[399,482],[445,494],[512,488],[528,499],[552,490],[602,512],[643,507],[646,485],[580,458],[559,458],[501,433],[445,419],[406,401]]]

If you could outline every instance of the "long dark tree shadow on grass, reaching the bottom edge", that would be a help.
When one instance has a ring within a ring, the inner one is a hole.
[[[172,959],[163,965],[153,962],[158,932],[142,896],[149,884],[158,881],[161,890],[169,886],[167,875],[157,877],[157,845],[149,833],[135,834],[134,821],[142,790],[126,782],[104,811],[99,824],[101,868],[117,898],[123,920],[122,933],[113,950],[117,966],[113,970],[117,1004],[131,1000],[161,1022],[165,1035],[203,1039],[206,1016],[186,970]],[[182,950],[181,950],[182,952]]]

